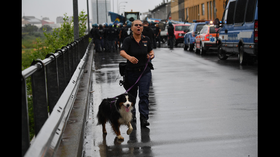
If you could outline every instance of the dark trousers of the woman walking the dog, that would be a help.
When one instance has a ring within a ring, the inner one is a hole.
[[[132,85],[134,85],[141,74],[142,72],[130,72],[129,70],[127,70],[128,84],[126,85],[125,90],[129,89]],[[137,92],[139,89],[139,113],[144,115],[146,119],[149,119],[149,90],[151,80],[151,69],[149,66],[147,66],[139,81],[128,91],[128,93],[137,98]],[[136,114],[135,108],[132,110],[132,114]]]

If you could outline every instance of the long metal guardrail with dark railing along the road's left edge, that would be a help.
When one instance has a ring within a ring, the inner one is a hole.
[[[92,43],[89,34],[21,71],[21,156],[53,156],[68,121]],[[35,140],[30,145],[26,79],[31,77]],[[49,112],[48,112],[49,108]]]

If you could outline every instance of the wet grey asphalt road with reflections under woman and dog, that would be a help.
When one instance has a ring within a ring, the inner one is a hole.
[[[179,46],[178,46],[179,47]],[[97,126],[101,100],[125,92],[119,85],[118,52],[95,53],[83,156],[258,156],[258,65],[238,57],[219,60],[182,47],[157,48],[152,60],[148,127],[137,122],[124,140]]]

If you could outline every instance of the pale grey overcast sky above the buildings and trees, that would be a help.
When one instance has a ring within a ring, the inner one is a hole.
[[[167,0],[164,1],[167,2]],[[120,8],[125,8],[121,9],[120,12],[129,12],[132,9],[136,12],[145,13],[149,9],[155,9],[155,6],[162,2],[163,0],[111,0],[111,12],[117,13],[117,4],[120,4]],[[88,3],[89,19],[91,19],[91,0],[88,0]],[[78,12],[81,11],[85,11],[87,14],[87,0],[78,0]],[[48,17],[56,23],[56,18],[64,17],[65,13],[68,16],[73,16],[73,0],[21,0],[21,17],[34,16],[37,19]]]

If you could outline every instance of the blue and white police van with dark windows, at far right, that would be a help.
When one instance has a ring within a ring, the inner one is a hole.
[[[215,19],[215,28],[220,28],[218,57],[226,60],[238,54],[241,65],[253,64],[258,59],[258,0],[229,0],[221,21]]]

